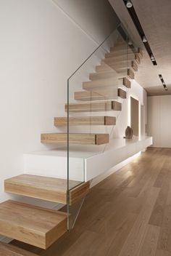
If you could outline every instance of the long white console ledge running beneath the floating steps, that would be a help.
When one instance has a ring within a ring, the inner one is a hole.
[[[113,139],[109,145],[92,151],[83,146],[70,147],[70,180],[88,181],[152,145],[152,137]],[[100,149],[100,151],[99,151]],[[25,173],[67,179],[66,148],[24,155]]]

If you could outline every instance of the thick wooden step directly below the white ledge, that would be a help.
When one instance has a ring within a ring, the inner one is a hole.
[[[70,205],[86,196],[89,183],[70,180]],[[4,191],[20,196],[67,204],[67,180],[37,175],[19,175],[4,181]]]

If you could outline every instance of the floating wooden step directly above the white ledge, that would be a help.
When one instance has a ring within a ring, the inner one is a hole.
[[[67,143],[67,133],[46,133],[41,135],[41,143]],[[109,143],[108,134],[70,133],[70,143],[101,145]]]

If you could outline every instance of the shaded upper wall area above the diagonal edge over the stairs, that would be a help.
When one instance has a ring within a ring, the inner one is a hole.
[[[53,1],[98,44],[120,23],[107,0]]]

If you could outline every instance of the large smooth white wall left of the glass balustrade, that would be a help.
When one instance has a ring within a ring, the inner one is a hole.
[[[22,173],[23,153],[52,147],[41,145],[40,135],[59,131],[53,117],[64,116],[67,77],[96,49],[94,39],[101,41],[116,25],[108,18],[111,9],[93,19],[92,13],[104,8],[98,3],[92,5],[91,39],[85,6],[72,9],[78,23],[80,11],[85,14],[80,28],[51,0],[0,1],[0,201],[10,197],[3,192],[4,179]]]

